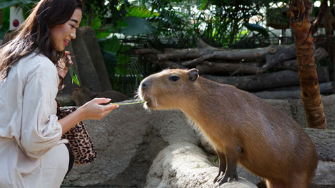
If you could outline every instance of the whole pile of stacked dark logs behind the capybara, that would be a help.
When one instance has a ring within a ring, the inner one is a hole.
[[[144,56],[147,62],[155,63],[161,68],[197,68],[202,77],[207,79],[245,91],[263,91],[259,95],[263,98],[299,97],[299,90],[295,90],[294,95],[292,91],[290,93],[283,89],[281,91],[285,92],[269,91],[270,88],[299,85],[294,44],[255,49],[221,49],[199,40],[198,47],[193,49],[165,49],[160,52],[146,48],[135,50],[135,54]],[[318,48],[314,50],[314,56],[315,61],[320,61],[328,53],[325,49]],[[317,71],[319,83],[329,81],[328,68],[318,68]],[[269,91],[268,95],[264,95],[264,91]],[[323,94],[329,92],[333,93],[333,85],[325,84]]]

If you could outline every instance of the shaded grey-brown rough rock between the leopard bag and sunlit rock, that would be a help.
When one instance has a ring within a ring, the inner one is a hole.
[[[179,141],[200,142],[180,111],[149,112],[141,104],[120,105],[102,120],[84,123],[98,158],[87,166],[74,166],[64,186],[142,187],[152,161],[163,148]]]

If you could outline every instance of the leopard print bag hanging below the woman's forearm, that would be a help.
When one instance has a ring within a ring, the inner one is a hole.
[[[57,116],[61,119],[75,110],[75,107],[58,108]],[[96,150],[94,150],[93,143],[89,137],[89,133],[85,129],[84,123],[77,123],[68,132],[64,133],[61,138],[68,140],[68,145],[73,152],[75,165],[90,164],[96,159]]]

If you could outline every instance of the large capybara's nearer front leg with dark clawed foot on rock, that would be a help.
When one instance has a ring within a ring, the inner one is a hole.
[[[232,180],[239,180],[239,176],[237,175],[236,167],[237,167],[237,155],[232,153],[230,155],[230,152],[227,152],[225,154],[225,162],[226,162],[226,168],[225,173],[223,175],[220,175],[217,178],[217,182],[219,182],[219,185],[223,185],[225,182],[231,182]]]

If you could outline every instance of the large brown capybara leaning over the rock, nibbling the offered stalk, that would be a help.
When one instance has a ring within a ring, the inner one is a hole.
[[[268,187],[308,188],[318,165],[315,146],[283,111],[234,86],[198,76],[198,70],[163,70],[139,87],[145,108],[180,109],[214,146],[220,162],[214,182],[237,179],[237,162]]]

